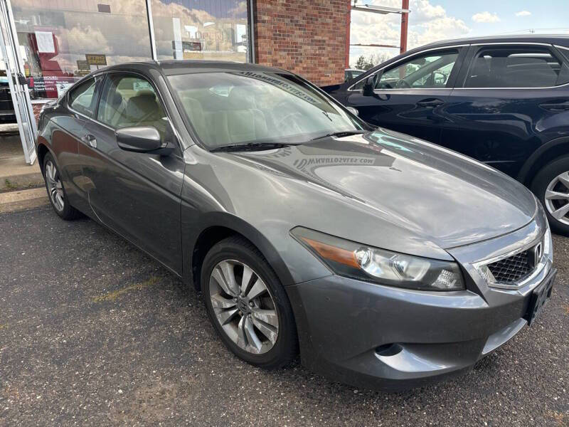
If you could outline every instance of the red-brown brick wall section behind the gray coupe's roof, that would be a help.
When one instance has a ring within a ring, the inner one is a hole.
[[[350,0],[254,0],[255,60],[317,85],[344,81]]]

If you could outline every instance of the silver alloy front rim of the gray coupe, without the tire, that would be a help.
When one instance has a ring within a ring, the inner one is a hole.
[[[223,332],[252,354],[263,354],[275,345],[279,318],[265,282],[248,265],[223,260],[209,280],[213,312]]]

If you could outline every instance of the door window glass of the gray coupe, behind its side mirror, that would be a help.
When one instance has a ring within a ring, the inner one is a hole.
[[[154,126],[164,136],[166,114],[144,78],[110,74],[102,90],[97,120],[110,127]]]

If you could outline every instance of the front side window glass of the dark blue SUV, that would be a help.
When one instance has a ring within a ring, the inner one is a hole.
[[[457,58],[457,50],[414,56],[384,70],[376,81],[376,89],[446,88]],[[363,83],[362,80],[354,89],[363,88]]]

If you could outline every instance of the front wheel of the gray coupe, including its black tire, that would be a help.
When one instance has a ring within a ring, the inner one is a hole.
[[[257,367],[276,369],[297,353],[287,294],[262,254],[245,238],[226,238],[207,253],[201,292],[223,343]]]

